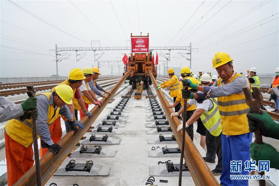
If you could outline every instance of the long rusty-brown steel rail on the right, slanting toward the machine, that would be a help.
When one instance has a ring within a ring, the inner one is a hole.
[[[149,70],[149,75],[151,77],[151,80],[153,82],[153,85],[156,87],[157,82],[152,75],[151,71]],[[171,119],[170,114],[173,113],[172,108],[167,108],[168,101],[166,100],[165,96],[163,95],[163,92],[161,90],[157,90],[155,88],[155,91],[159,97],[159,100],[162,104],[162,107],[164,109],[164,113],[169,121],[169,126],[171,127],[173,134],[175,136],[175,139],[178,143],[179,148],[181,149],[182,144],[182,131],[177,132],[177,127],[181,124],[180,120],[177,117],[173,117]],[[191,173],[192,179],[194,180],[195,185],[220,185],[218,181],[215,179],[214,175],[212,174],[211,170],[205,163],[204,159],[200,155],[200,152],[196,148],[195,144],[189,137],[189,135],[186,133],[185,135],[185,145],[184,145],[184,160],[188,166],[188,169]]]

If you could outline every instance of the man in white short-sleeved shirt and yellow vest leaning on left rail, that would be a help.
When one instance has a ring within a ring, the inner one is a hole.
[[[92,69],[90,67],[86,67],[83,69],[83,75],[85,79],[83,79],[82,85],[79,87],[79,93],[84,100],[84,105],[85,108],[88,110],[89,104],[96,104],[101,106],[101,102],[97,100],[95,94],[93,91],[90,89],[88,82],[90,82],[93,78],[94,73],[92,72]],[[96,100],[96,101],[95,101]],[[79,103],[77,100],[74,100],[74,107],[75,108],[80,108],[79,109],[79,116],[80,118],[83,118],[85,116],[83,110],[79,106]]]

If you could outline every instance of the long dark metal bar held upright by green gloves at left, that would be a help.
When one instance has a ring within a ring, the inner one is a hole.
[[[27,95],[29,97],[34,97],[37,89],[33,86],[26,86]],[[39,149],[38,149],[38,139],[37,139],[37,129],[36,129],[36,120],[31,117],[31,126],[32,126],[32,136],[33,136],[33,145],[34,145],[34,156],[35,156],[35,165],[36,165],[36,174],[37,174],[37,185],[42,186],[41,180],[41,168],[40,168],[40,158],[39,158]]]

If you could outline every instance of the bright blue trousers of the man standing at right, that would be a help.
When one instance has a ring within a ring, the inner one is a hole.
[[[223,172],[220,177],[222,186],[247,185],[248,180],[232,180],[230,175],[248,175],[244,170],[244,162],[250,160],[250,146],[252,142],[252,133],[241,135],[231,135],[226,137],[222,134],[222,152],[223,152]],[[231,172],[231,161],[242,161],[241,172]]]

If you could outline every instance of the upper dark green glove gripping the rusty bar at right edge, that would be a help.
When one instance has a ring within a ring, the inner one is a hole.
[[[259,125],[263,136],[279,139],[279,124],[274,122],[267,112],[261,111],[261,114],[254,114],[249,111],[247,118],[250,132],[254,132]]]

